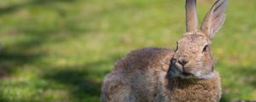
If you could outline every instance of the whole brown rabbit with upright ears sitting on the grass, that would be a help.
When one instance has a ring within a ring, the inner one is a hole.
[[[102,102],[217,102],[220,77],[210,49],[224,24],[227,0],[218,0],[198,28],[196,0],[186,0],[186,33],[176,50],[141,48],[116,62],[102,85]]]

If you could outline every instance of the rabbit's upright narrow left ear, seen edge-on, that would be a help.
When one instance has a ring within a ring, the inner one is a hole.
[[[187,32],[198,29],[196,0],[186,0],[186,26]]]

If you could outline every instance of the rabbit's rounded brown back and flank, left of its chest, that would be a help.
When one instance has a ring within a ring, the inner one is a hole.
[[[115,64],[105,77],[103,101],[153,101],[157,83],[166,77],[173,51],[167,48],[141,48]]]

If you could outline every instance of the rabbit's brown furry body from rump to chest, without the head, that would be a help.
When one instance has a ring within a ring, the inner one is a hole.
[[[173,54],[174,51],[166,48],[132,51],[120,59],[105,78],[102,101],[218,101],[221,94],[218,72],[215,71],[214,77],[209,80],[190,81],[168,77]]]

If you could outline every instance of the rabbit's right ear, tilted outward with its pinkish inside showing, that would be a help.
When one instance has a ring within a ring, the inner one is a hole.
[[[201,31],[204,31],[210,39],[224,24],[224,10],[227,8],[227,5],[228,0],[218,0],[214,3],[201,24]]]

